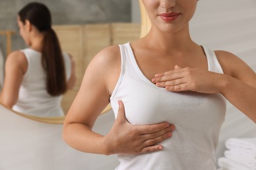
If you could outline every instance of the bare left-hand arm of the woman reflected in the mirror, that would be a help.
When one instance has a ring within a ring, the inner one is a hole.
[[[5,80],[0,95],[0,102],[12,108],[18,100],[18,91],[26,73],[28,61],[23,52],[16,51],[9,54],[5,63]]]

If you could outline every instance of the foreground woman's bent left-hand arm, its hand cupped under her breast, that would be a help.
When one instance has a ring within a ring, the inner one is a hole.
[[[161,150],[158,143],[171,137],[173,126],[167,123],[133,126],[125,119],[125,106],[119,101],[119,112],[110,132],[100,135],[92,131],[96,118],[110,102],[111,87],[121,71],[118,46],[98,53],[91,61],[77,96],[64,122],[66,143],[82,152],[117,154],[154,152]]]

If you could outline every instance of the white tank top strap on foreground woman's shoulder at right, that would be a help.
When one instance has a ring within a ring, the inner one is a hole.
[[[208,70],[215,73],[223,73],[223,69],[221,68],[221,64],[219,63],[215,52],[213,50],[209,50],[205,46],[203,46],[203,50],[207,58]]]

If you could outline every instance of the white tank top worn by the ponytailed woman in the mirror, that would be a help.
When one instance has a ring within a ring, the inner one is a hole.
[[[47,76],[41,64],[41,53],[31,48],[21,51],[28,60],[28,69],[23,76],[18,101],[12,109],[32,116],[64,116],[60,105],[62,95],[53,97],[47,92]],[[63,56],[68,80],[71,75],[71,61],[68,54],[63,53]]]

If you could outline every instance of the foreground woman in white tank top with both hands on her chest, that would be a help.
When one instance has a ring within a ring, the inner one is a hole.
[[[91,61],[64,140],[83,152],[118,154],[117,169],[216,169],[225,98],[256,122],[256,75],[234,54],[192,41],[188,22],[197,0],[142,1],[150,32]],[[102,136],[92,127],[109,101],[116,122]],[[170,139],[170,129],[137,129],[159,122],[175,125]]]

